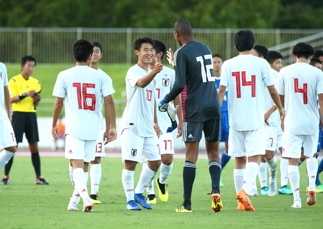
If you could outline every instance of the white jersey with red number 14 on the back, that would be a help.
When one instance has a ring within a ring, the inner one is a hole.
[[[220,85],[228,87],[230,128],[255,130],[264,124],[264,87],[276,83],[272,68],[262,58],[239,55],[222,65]]]

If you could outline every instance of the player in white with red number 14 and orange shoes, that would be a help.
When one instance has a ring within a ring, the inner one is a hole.
[[[228,87],[229,155],[236,157],[234,183],[239,201],[237,209],[246,211],[254,211],[249,192],[252,182],[256,181],[261,155],[265,154],[263,85],[267,86],[279,111],[285,115],[270,65],[266,60],[251,55],[254,43],[250,30],[241,30],[236,34],[234,44],[239,56],[222,65],[219,88],[222,104]]]

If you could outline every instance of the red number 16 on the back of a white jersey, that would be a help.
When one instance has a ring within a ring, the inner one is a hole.
[[[82,108],[82,96],[83,96],[83,107],[84,110],[90,110],[90,111],[94,111],[95,110],[95,94],[88,94],[86,93],[86,89],[89,88],[95,88],[95,84],[94,83],[83,83],[83,89],[82,89],[82,93],[81,93],[81,83],[73,83],[73,87],[76,87],[76,92],[77,92],[77,102],[79,105],[79,109],[83,109]],[[91,106],[88,106],[86,103],[86,99],[92,99],[92,104]]]

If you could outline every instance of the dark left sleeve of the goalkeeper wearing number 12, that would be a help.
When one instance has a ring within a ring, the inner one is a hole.
[[[179,51],[179,50],[178,50]],[[175,52],[175,82],[172,90],[167,95],[169,101],[175,100],[175,98],[181,94],[182,90],[186,85],[186,60],[187,57],[185,53]]]

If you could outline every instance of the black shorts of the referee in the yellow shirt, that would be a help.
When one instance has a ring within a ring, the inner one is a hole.
[[[28,143],[39,142],[36,112],[14,111],[11,124],[15,131],[17,143],[22,143],[24,132]]]

